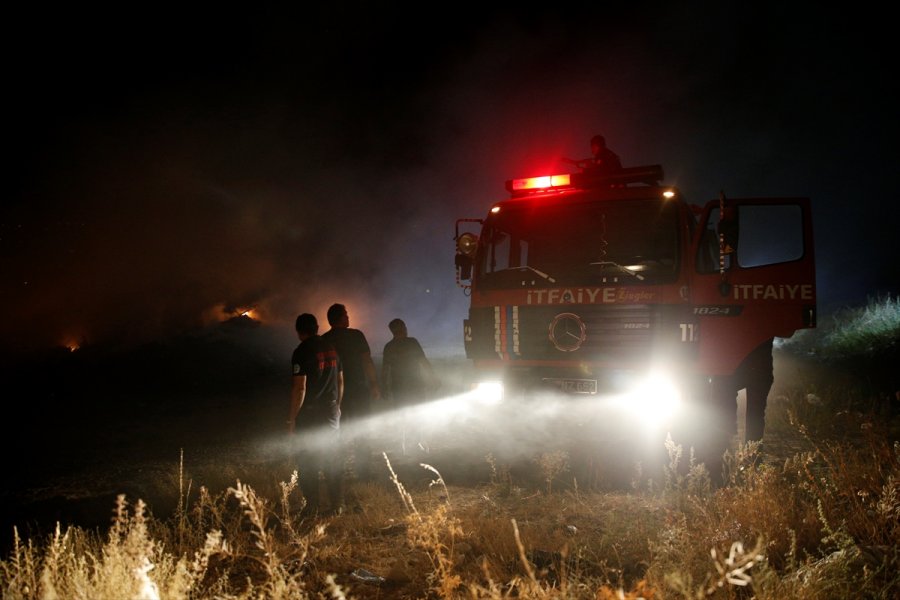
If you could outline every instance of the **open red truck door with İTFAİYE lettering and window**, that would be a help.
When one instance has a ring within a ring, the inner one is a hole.
[[[808,198],[720,199],[694,240],[691,300],[701,372],[730,375],[755,348],[816,320]]]

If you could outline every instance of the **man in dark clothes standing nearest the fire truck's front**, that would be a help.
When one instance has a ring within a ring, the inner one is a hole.
[[[400,449],[406,454],[413,437],[409,409],[427,399],[437,387],[437,377],[419,340],[409,337],[402,319],[393,319],[388,329],[394,337],[384,345],[381,382],[391,406],[400,412]]]

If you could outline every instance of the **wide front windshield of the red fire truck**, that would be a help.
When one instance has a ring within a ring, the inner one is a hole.
[[[673,281],[678,206],[653,198],[504,206],[485,222],[477,259],[485,288]]]

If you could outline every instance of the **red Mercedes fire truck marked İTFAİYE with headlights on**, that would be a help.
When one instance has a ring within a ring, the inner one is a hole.
[[[742,441],[740,390],[747,438],[762,437],[773,340],[815,326],[811,207],[724,192],[700,206],[663,179],[660,165],[511,179],[486,216],[458,219],[465,351],[497,400],[615,402],[680,423],[709,464]]]

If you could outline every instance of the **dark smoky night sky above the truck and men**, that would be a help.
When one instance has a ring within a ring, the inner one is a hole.
[[[324,331],[343,302],[375,354],[394,317],[462,353],[456,219],[596,133],[698,204],[812,198],[821,312],[897,293],[890,20],[622,4],[10,13],[0,344],[253,308],[291,346],[298,313]]]

